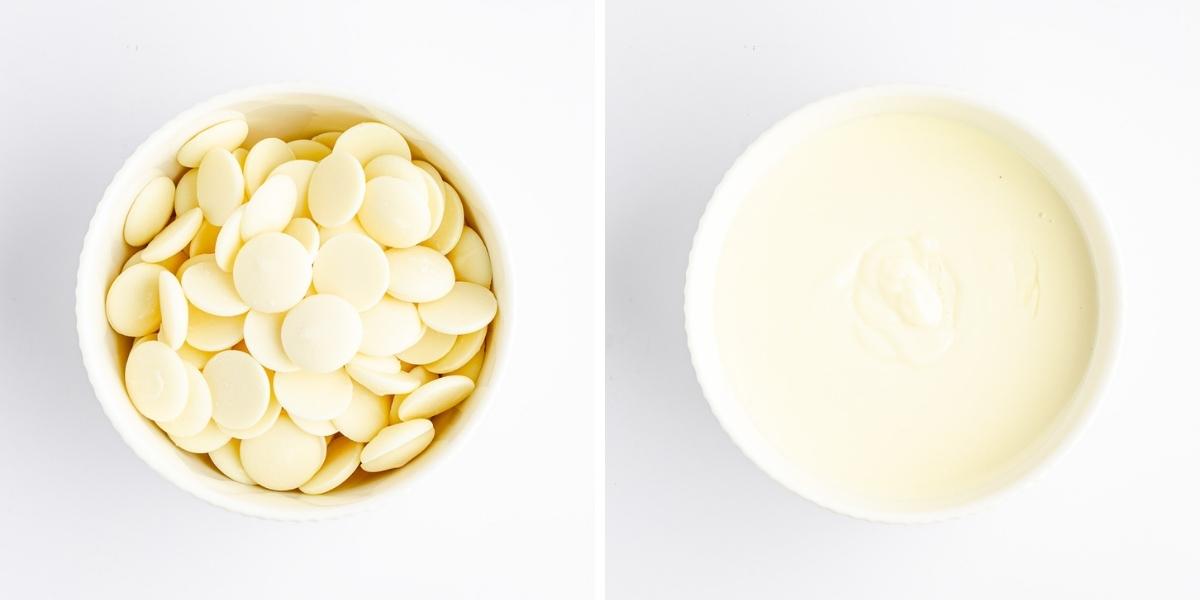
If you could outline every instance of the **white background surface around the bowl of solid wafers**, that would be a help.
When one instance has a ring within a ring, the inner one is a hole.
[[[592,17],[588,1],[6,4],[0,596],[588,596]],[[436,132],[497,203],[515,268],[514,356],[476,437],[427,487],[332,522],[242,517],[161,479],[100,410],[74,341],[77,257],[113,173],[179,112],[269,82],[361,91]]]

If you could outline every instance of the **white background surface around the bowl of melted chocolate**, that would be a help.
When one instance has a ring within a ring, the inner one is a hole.
[[[608,0],[607,30],[610,598],[1200,594],[1200,4]],[[758,472],[683,332],[725,169],[790,112],[878,83],[1024,118],[1093,184],[1124,268],[1123,350],[1081,442],[1025,493],[930,526],[836,516]]]

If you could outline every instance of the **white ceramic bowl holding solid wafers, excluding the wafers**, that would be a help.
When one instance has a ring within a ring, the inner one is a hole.
[[[178,179],[179,146],[202,128],[228,119],[230,110],[246,115],[251,138],[310,138],[325,131],[344,130],[361,121],[379,121],[403,133],[414,156],[437,166],[462,196],[467,222],[482,236],[492,257],[493,289],[500,311],[487,337],[478,388],[457,408],[434,419],[437,437],[430,448],[406,467],[367,474],[359,472],[347,484],[322,496],[272,492],[230,481],[206,456],[179,450],[150,420],[134,410],[125,392],[124,365],[130,341],[108,326],[104,296],[131,254],[121,238],[125,214],[142,186],[166,174]],[[121,438],[151,468],[179,487],[217,506],[246,515],[280,520],[313,520],[344,515],[377,504],[398,492],[419,490],[421,481],[446,463],[461,448],[496,398],[497,376],[503,370],[512,322],[512,289],[505,245],[482,191],[467,169],[440,142],[415,121],[379,103],[308,86],[270,85],[224,94],[184,112],[150,136],[125,161],[104,191],[92,216],[79,256],[76,283],[76,319],[79,349],[88,378],[104,413]]]

